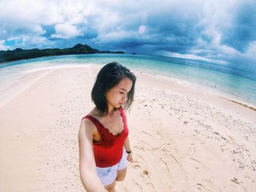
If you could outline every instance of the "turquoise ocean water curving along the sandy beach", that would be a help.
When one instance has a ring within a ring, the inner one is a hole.
[[[0,64],[0,106],[29,86],[19,81],[27,72],[90,64],[103,66],[113,61],[131,70],[162,75],[256,106],[256,74],[206,61],[129,54],[61,55]]]

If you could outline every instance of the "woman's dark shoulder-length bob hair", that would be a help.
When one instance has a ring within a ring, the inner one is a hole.
[[[125,66],[113,62],[106,64],[100,69],[97,79],[94,83],[94,87],[91,91],[91,100],[97,107],[97,110],[108,113],[108,102],[106,99],[106,93],[118,84],[125,77],[132,80],[132,88],[127,94],[127,101],[124,103],[124,108],[129,108],[132,104],[134,93],[135,93],[135,74],[129,71]]]

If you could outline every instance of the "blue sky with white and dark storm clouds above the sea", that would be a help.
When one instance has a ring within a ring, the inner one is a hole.
[[[255,0],[0,0],[0,50],[72,47],[256,68]]]

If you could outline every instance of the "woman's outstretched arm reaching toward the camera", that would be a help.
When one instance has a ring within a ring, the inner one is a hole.
[[[97,176],[92,143],[94,128],[91,124],[91,121],[83,119],[78,132],[80,180],[86,191],[102,192],[105,188]]]

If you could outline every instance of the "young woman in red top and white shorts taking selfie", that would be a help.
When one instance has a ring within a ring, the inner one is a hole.
[[[99,71],[91,91],[96,105],[78,133],[80,179],[86,191],[115,191],[132,162],[125,113],[135,91],[135,75],[116,62]]]

